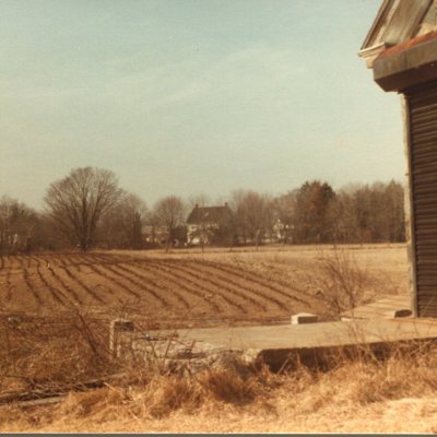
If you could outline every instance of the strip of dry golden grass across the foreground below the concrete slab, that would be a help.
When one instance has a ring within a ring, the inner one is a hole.
[[[437,346],[338,354],[330,369],[234,367],[149,374],[71,393],[60,404],[0,409],[0,429],[32,432],[433,432]],[[410,422],[401,421],[408,410]],[[424,414],[427,416],[424,416]],[[206,421],[208,418],[208,421]],[[414,418],[414,420],[413,420]],[[364,421],[365,420],[365,421]],[[206,421],[206,422],[203,422]]]

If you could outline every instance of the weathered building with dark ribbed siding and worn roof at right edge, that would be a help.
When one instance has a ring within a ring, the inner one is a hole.
[[[385,0],[359,56],[403,96],[413,312],[437,317],[437,0]]]

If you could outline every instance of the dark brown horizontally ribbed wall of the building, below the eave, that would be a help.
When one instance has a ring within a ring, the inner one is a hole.
[[[406,90],[418,317],[437,317],[437,82]]]

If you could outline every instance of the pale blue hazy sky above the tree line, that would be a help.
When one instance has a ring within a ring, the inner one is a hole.
[[[381,0],[0,0],[0,194],[71,168],[147,204],[403,180],[400,97],[357,51]]]

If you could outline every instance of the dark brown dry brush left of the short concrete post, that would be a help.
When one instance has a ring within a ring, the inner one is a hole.
[[[0,392],[54,393],[117,369],[108,322],[79,311],[0,318]]]

